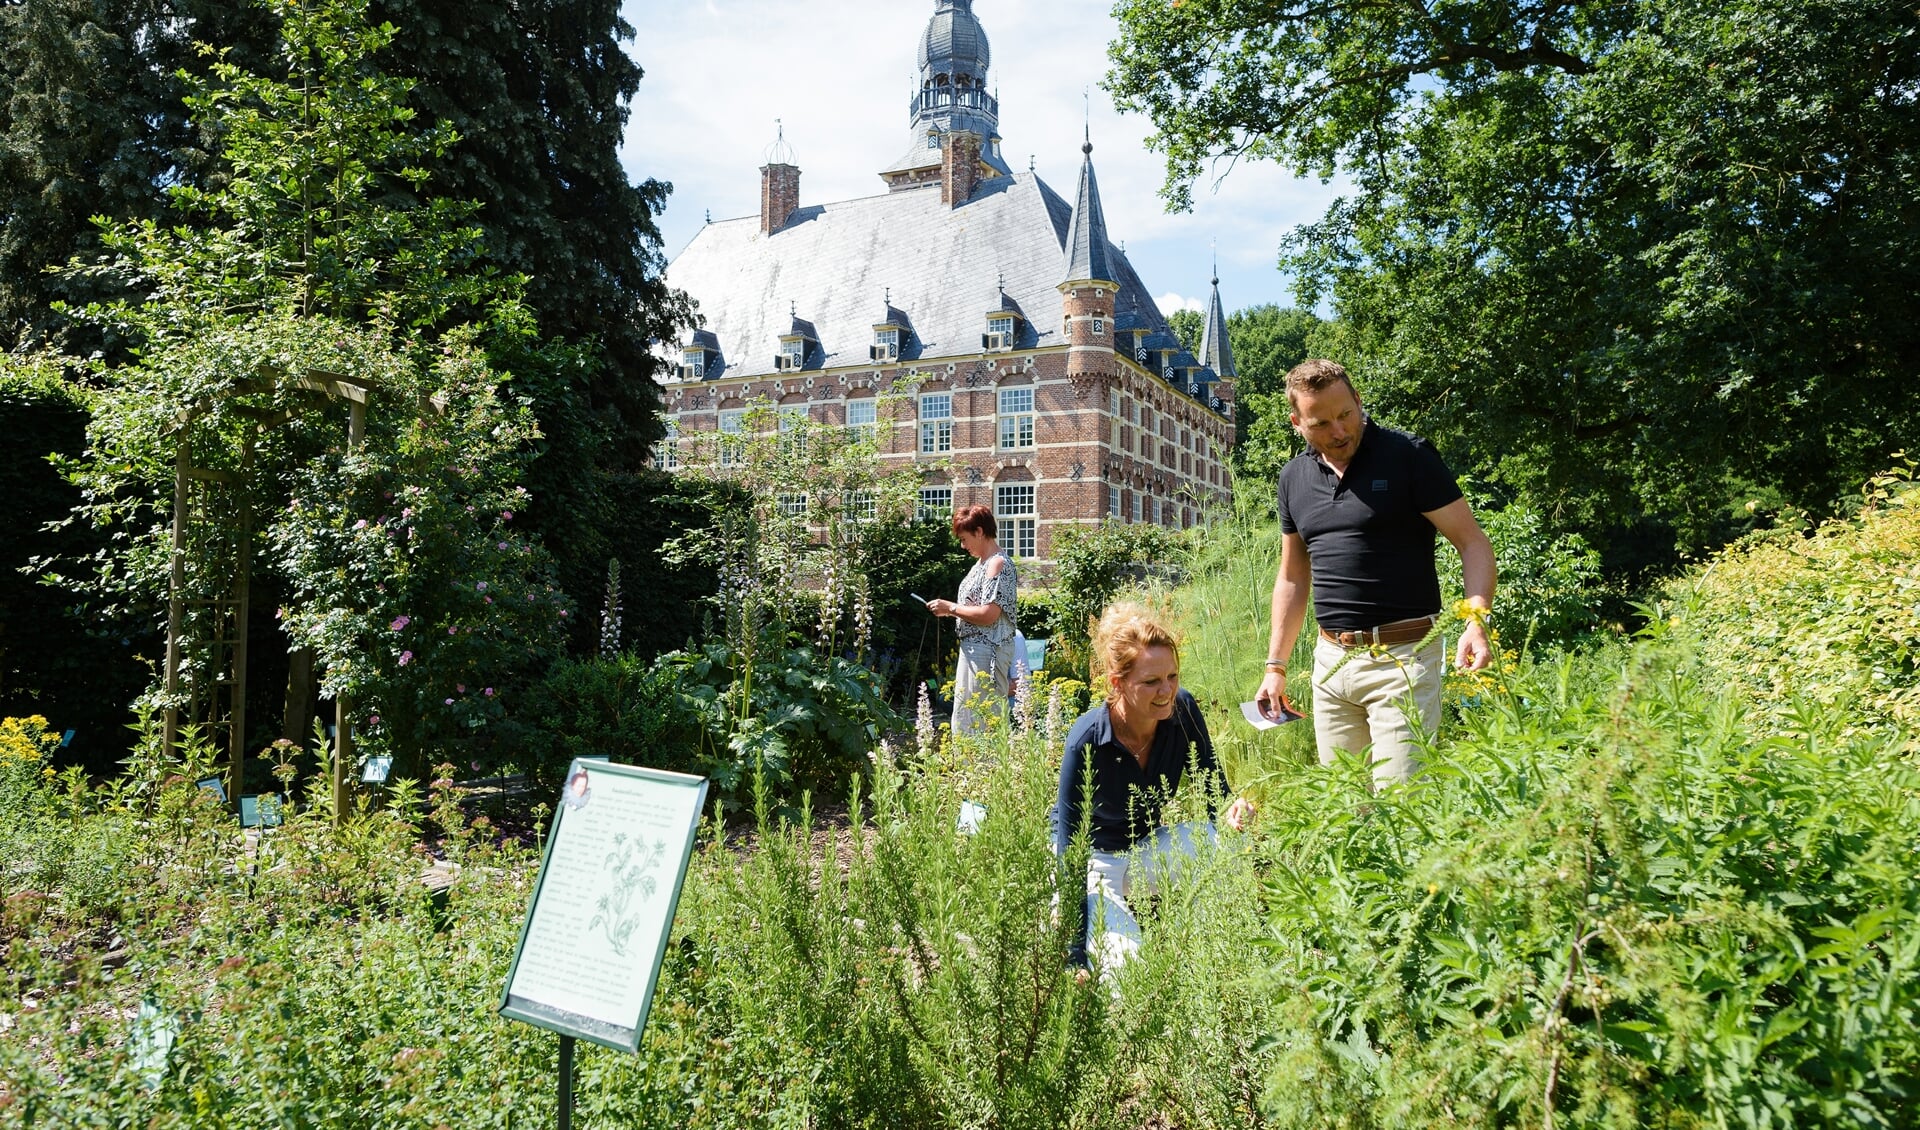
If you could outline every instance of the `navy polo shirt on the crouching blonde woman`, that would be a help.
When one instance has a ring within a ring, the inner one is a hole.
[[[1100,852],[1125,852],[1160,827],[1160,810],[1181,787],[1187,769],[1219,773],[1213,739],[1200,706],[1187,691],[1173,696],[1173,716],[1154,729],[1142,769],[1114,737],[1106,704],[1073,721],[1060,760],[1060,792],[1054,798],[1054,852],[1068,856],[1068,842],[1081,821],[1081,775],[1092,767],[1092,817],[1089,840]]]

